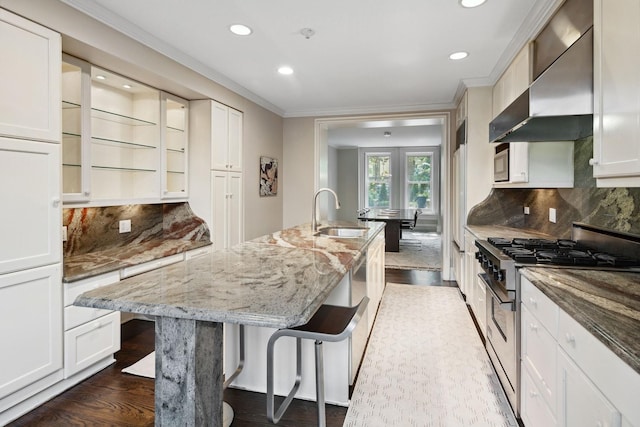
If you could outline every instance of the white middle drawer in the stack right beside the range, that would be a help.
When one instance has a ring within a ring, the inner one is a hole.
[[[539,390],[551,412],[556,412],[557,344],[549,331],[533,316],[526,306],[522,307],[521,356],[523,371],[529,371],[531,380]]]

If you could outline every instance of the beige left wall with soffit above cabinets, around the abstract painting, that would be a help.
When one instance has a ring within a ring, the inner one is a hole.
[[[61,33],[71,55],[186,99],[215,99],[242,111],[245,238],[282,228],[282,192],[258,194],[260,156],[284,160],[282,117],[57,0],[0,0],[0,6]]]

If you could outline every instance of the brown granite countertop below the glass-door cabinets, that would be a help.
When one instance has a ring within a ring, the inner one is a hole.
[[[153,239],[135,245],[65,256],[62,281],[71,283],[210,244],[210,241],[199,240]]]

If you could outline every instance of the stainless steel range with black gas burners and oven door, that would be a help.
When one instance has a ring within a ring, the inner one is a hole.
[[[574,223],[571,239],[476,240],[487,289],[486,348],[514,412],[520,412],[520,274],[518,269],[640,271],[640,236]]]

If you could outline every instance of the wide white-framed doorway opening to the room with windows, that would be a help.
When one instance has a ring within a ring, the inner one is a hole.
[[[449,127],[448,112],[316,119],[315,185],[335,189],[342,204],[336,211],[326,203],[321,212],[356,221],[363,208],[419,209],[415,227],[403,230],[401,248],[413,251],[415,259],[431,260],[416,269],[441,270],[449,280],[443,265],[451,240]],[[438,262],[426,252],[416,256],[425,242],[437,247]]]

